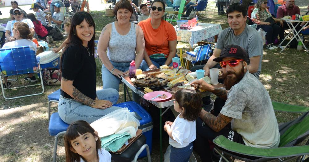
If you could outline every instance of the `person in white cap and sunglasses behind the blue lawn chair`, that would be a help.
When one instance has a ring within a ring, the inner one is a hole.
[[[14,13],[13,17],[14,17],[15,20],[8,21],[6,23],[5,37],[9,38],[9,37],[14,36],[13,25],[14,25],[15,22],[26,23],[29,26],[31,34],[34,35],[34,25],[33,25],[32,21],[30,19],[23,19],[23,12],[18,8],[15,8],[13,10],[13,13]]]

